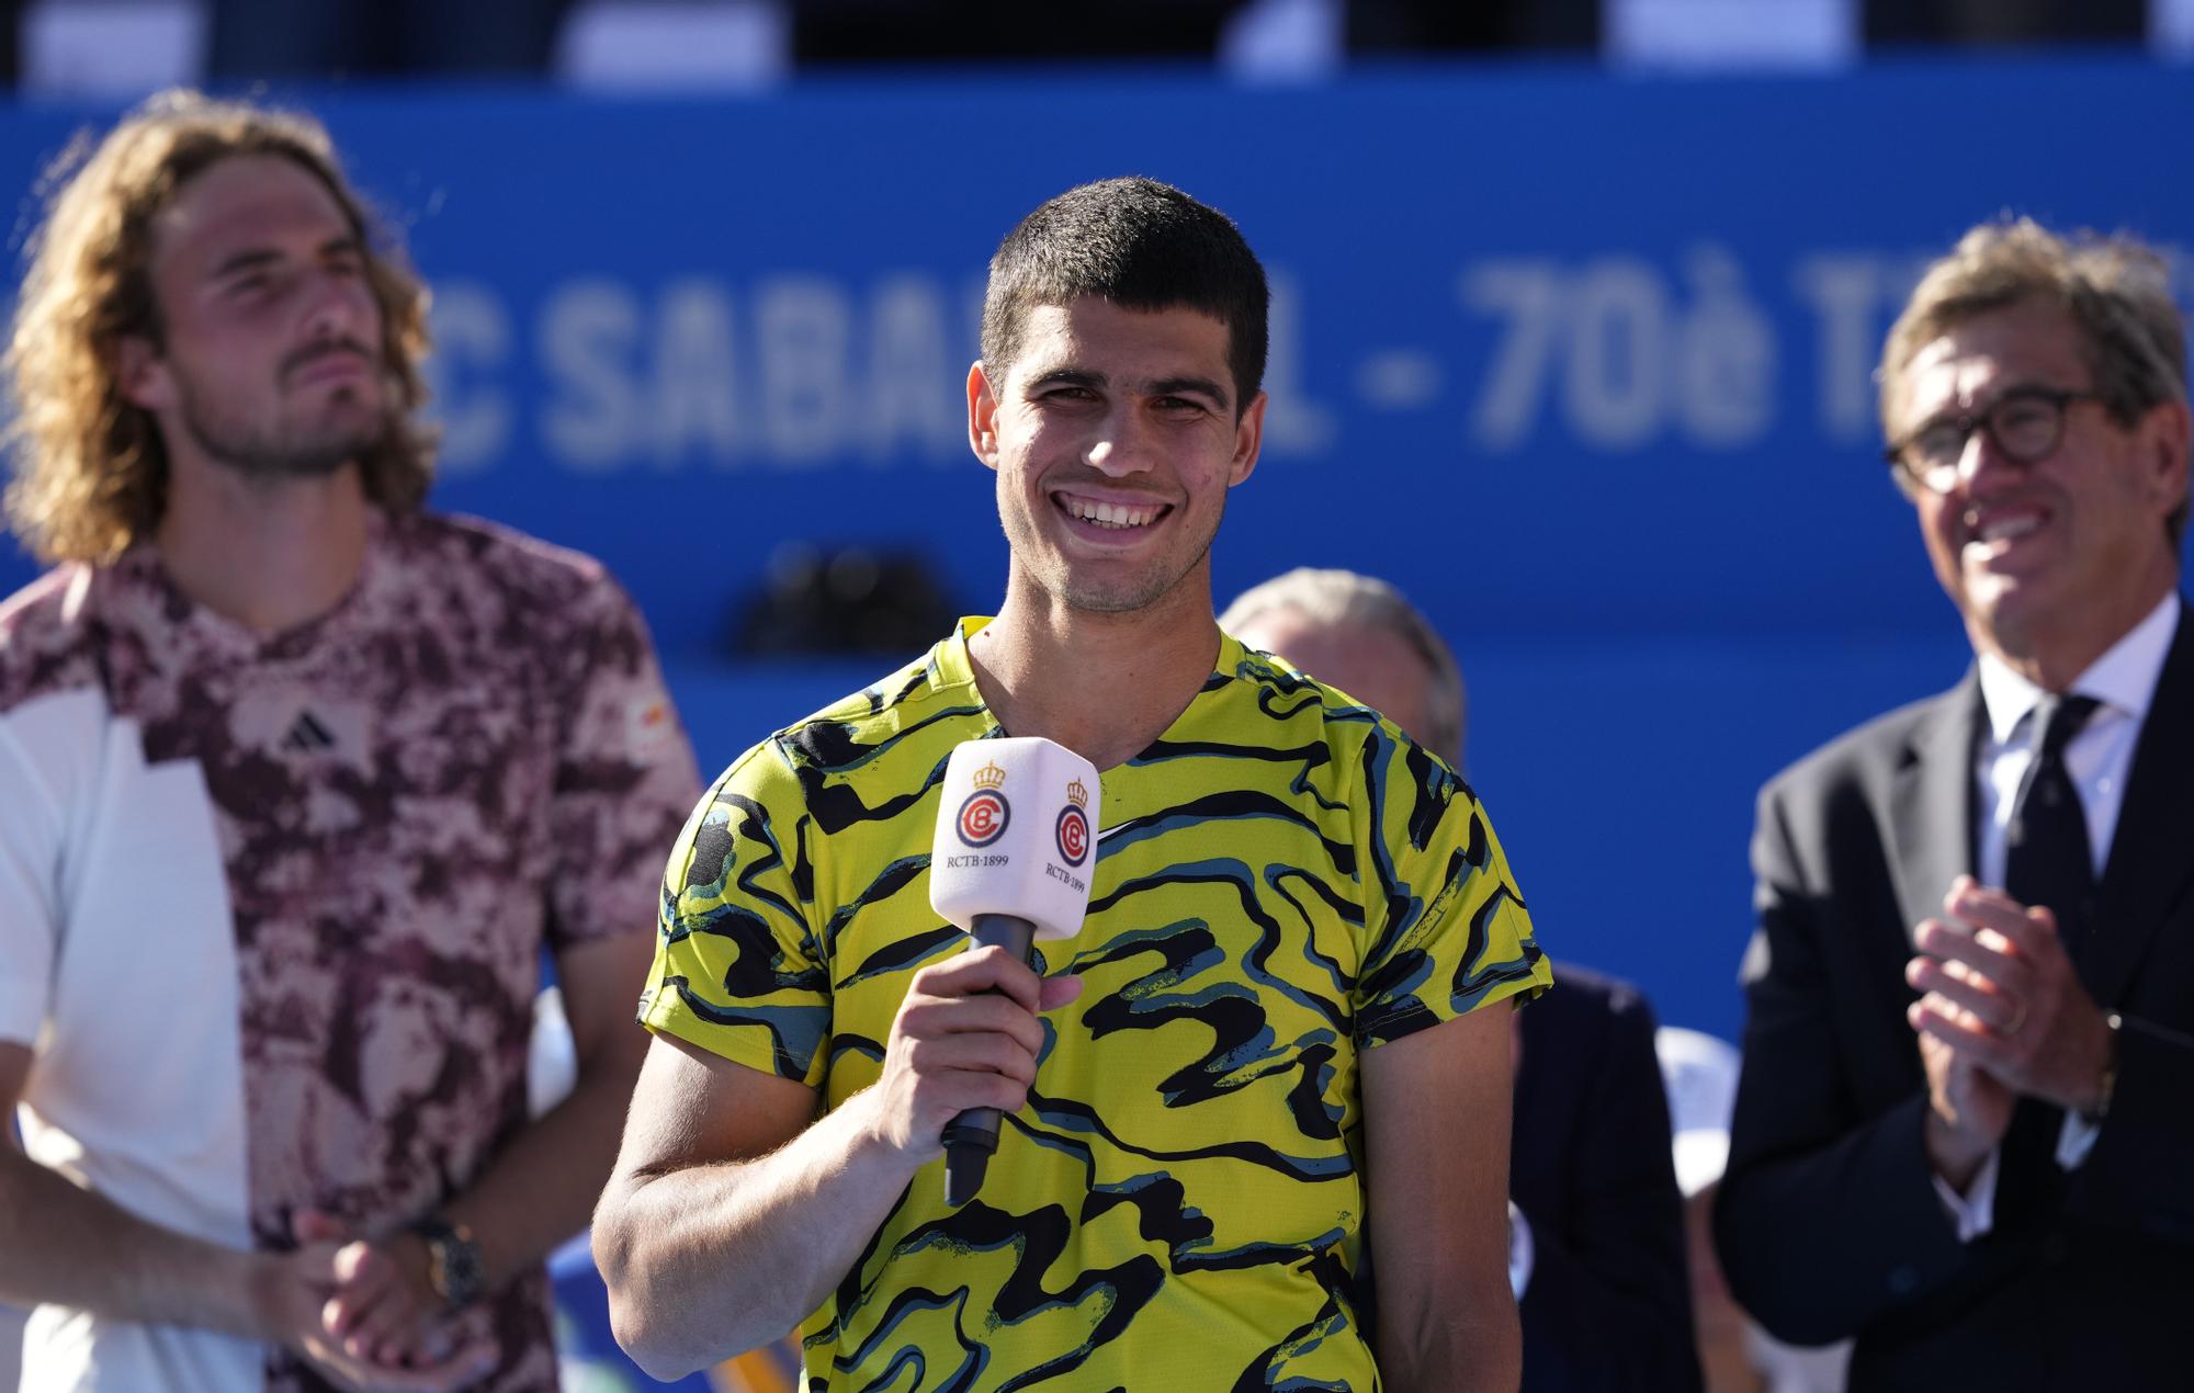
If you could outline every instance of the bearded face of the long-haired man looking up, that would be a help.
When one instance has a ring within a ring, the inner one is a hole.
[[[395,426],[364,248],[327,186],[233,156],[154,219],[158,342],[123,344],[125,395],[169,452],[257,478],[331,474]]]

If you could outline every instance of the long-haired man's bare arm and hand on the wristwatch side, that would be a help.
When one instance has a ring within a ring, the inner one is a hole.
[[[654,935],[617,935],[557,956],[557,983],[579,1060],[577,1084],[441,1211],[450,1224],[472,1231],[487,1268],[487,1290],[586,1226],[617,1156],[617,1125],[647,1051],[647,1033],[632,1024],[632,998],[647,976],[652,952]],[[303,1224],[312,1224],[312,1237],[351,1237],[318,1215]],[[344,1242],[336,1253],[342,1281],[325,1312],[329,1332],[351,1354],[382,1362],[432,1349],[445,1312],[428,1266],[426,1242],[406,1231]]]

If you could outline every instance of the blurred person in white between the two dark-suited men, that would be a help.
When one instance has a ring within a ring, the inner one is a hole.
[[[1729,1163],[1729,1112],[1738,1101],[1738,1046],[1705,1031],[1665,1024],[1654,1055],[1667,1084],[1676,1134],[1676,1185],[1683,1189],[1685,1255],[1692,1266],[1692,1316],[1707,1393],[1843,1393],[1852,1345],[1784,1345],[1744,1314],[1714,1255],[1714,1191]]]

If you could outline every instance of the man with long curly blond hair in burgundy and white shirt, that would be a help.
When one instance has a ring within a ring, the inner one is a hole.
[[[154,99],[7,369],[0,1299],[37,1389],[553,1389],[693,801],[630,601],[419,509],[426,292],[309,118]],[[540,956],[579,1084],[527,1117]]]

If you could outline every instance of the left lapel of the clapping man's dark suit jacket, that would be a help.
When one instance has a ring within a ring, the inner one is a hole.
[[[1972,873],[1972,750],[1981,731],[1981,682],[1975,673],[1935,698],[1913,724],[1889,794],[1896,831],[1898,908],[1904,939],[1922,919],[1942,915],[1950,882]]]

